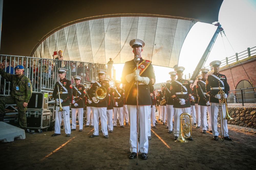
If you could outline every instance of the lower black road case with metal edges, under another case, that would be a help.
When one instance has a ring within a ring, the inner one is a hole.
[[[50,127],[50,110],[28,109],[26,114],[28,129],[45,129]]]

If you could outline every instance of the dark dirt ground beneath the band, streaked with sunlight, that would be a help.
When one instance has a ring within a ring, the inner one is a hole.
[[[157,113],[156,113],[157,114]],[[130,127],[114,127],[105,139],[89,138],[93,128],[51,137],[54,132],[26,134],[26,139],[0,143],[1,169],[256,169],[256,129],[229,125],[233,141],[215,141],[211,133],[192,127],[194,141],[174,142],[174,134],[158,121],[151,130],[149,159],[129,159]]]

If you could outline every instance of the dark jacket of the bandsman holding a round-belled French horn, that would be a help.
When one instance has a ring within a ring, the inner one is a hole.
[[[109,86],[109,83],[106,83],[104,80],[103,81],[99,81],[99,82],[97,82],[97,83],[93,83],[92,84],[92,87],[90,88],[90,90],[88,90],[87,92],[88,92],[88,94],[89,94],[89,96],[90,96],[90,98],[93,98],[93,97],[95,97],[94,95],[95,95],[95,90],[98,88],[98,87],[100,87],[100,85],[102,86],[102,87],[104,87],[105,89],[106,89],[106,91],[107,91],[107,93],[106,93],[106,96],[103,98],[103,99],[99,99],[99,102],[98,103],[94,103],[93,101],[93,107],[108,107],[108,100],[107,100],[107,98],[108,98],[108,96],[109,96],[109,91],[110,91],[110,86]]]

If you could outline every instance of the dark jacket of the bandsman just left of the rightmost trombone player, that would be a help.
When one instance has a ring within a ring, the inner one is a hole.
[[[199,96],[198,105],[207,106],[206,103],[209,101],[209,97],[207,96],[206,93],[205,83],[203,83],[202,81],[206,83],[206,79],[201,79],[196,83],[196,91],[197,95]],[[202,90],[200,89],[199,85]]]

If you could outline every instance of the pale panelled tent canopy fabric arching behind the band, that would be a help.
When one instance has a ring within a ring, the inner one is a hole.
[[[62,50],[64,60],[106,64],[133,59],[130,40],[145,41],[143,59],[157,66],[178,64],[183,42],[195,20],[160,17],[111,17],[69,25],[48,36],[33,57],[52,58]]]

